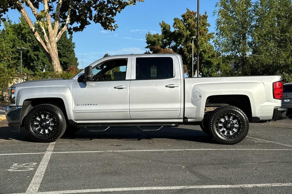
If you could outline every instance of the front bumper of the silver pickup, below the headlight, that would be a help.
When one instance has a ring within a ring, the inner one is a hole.
[[[12,128],[12,131],[20,131],[20,114],[21,106],[9,106],[5,111],[8,126]]]

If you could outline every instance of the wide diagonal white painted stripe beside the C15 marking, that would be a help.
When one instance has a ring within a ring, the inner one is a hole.
[[[34,177],[32,178],[32,181],[30,182],[26,193],[36,193],[39,190],[39,186],[41,185],[41,180],[44,177],[44,174],[46,172],[46,168],[48,166],[50,157],[52,155],[52,151],[54,149],[55,142],[51,142],[48,146],[48,149],[41,160],[41,163],[39,164],[39,167],[36,170],[36,173],[34,174]]]

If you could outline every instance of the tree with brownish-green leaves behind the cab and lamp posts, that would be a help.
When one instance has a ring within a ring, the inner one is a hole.
[[[169,24],[162,21],[159,23],[161,34],[146,34],[146,43],[148,48],[153,53],[175,52],[182,56],[183,64],[187,67],[187,74],[192,76],[192,41],[191,37],[197,34],[197,13],[187,9],[187,12],[181,15],[180,18],[174,18],[173,28]],[[210,40],[214,38],[214,33],[208,32],[210,24],[207,22],[207,13],[200,15],[200,68],[201,76],[218,76],[220,60],[218,54],[214,51]],[[194,47],[194,53],[197,52],[197,47]],[[194,65],[196,67],[196,65]],[[196,68],[194,68],[195,70]]]

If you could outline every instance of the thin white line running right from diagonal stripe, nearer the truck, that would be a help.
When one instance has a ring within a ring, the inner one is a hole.
[[[54,151],[53,154],[67,153],[99,153],[99,152],[142,152],[142,151],[208,151],[208,150],[255,150],[255,151],[280,151],[292,149],[144,149],[144,150],[107,150],[107,151]]]

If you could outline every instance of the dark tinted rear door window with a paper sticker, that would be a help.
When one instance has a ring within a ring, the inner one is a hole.
[[[136,58],[136,80],[167,79],[174,77],[171,57]]]

